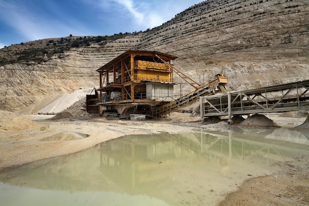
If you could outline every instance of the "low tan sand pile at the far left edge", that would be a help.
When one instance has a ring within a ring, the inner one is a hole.
[[[38,124],[27,117],[16,116],[13,113],[0,111],[0,129],[20,131],[20,130],[45,130],[47,125]]]

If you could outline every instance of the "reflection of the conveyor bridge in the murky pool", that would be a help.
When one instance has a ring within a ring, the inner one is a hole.
[[[234,129],[238,131],[217,132],[220,136],[229,138],[217,138],[210,142],[209,138],[205,138],[205,134],[201,133],[202,154],[214,155],[216,158],[226,159],[227,162],[255,159],[256,162],[265,161],[268,164],[309,154],[309,139],[301,131],[286,128]]]

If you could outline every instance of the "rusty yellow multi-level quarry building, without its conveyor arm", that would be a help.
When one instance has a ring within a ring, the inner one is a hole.
[[[157,51],[127,50],[97,70],[98,105],[128,117],[151,114],[153,106],[173,101],[173,71],[161,59],[172,64],[176,58]]]

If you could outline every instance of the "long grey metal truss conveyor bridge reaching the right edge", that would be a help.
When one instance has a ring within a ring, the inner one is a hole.
[[[309,80],[200,98],[200,118],[309,110]]]

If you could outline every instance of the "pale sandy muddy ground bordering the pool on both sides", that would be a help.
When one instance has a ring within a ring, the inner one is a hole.
[[[172,113],[159,120],[128,121],[90,118],[89,120],[60,119],[52,116],[19,115],[0,111],[0,172],[37,160],[75,153],[98,143],[129,134],[158,132],[182,133],[196,128],[216,129],[225,122],[200,124],[199,117]],[[268,116],[278,126],[296,127],[305,117]],[[305,129],[308,129],[308,126]],[[41,141],[64,131],[88,134],[73,141]],[[309,157],[279,163],[280,173],[246,180],[221,202],[220,206],[308,206]]]

